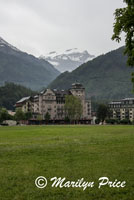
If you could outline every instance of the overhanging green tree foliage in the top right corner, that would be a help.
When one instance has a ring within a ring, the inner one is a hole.
[[[134,66],[134,0],[124,0],[125,8],[115,11],[113,40],[120,42],[121,33],[125,33],[125,51],[128,56],[127,63]]]

